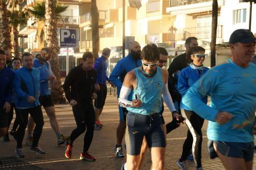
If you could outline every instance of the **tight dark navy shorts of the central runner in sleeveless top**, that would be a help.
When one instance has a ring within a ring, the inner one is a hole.
[[[144,136],[149,148],[166,147],[160,113],[154,113],[149,116],[128,112],[125,142],[129,155],[139,155]]]

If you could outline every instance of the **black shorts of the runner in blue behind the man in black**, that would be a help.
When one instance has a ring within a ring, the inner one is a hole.
[[[107,85],[99,84],[99,86],[100,86],[100,90],[96,91],[97,98],[94,101],[94,106],[98,109],[102,109],[107,97]]]

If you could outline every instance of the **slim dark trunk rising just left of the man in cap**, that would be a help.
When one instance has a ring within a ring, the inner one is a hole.
[[[211,67],[216,65],[216,34],[218,24],[218,0],[212,1],[212,21],[211,21]]]

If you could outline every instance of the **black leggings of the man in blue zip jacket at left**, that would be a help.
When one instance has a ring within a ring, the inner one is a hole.
[[[44,126],[44,117],[42,115],[41,106],[38,105],[36,107],[26,108],[26,109],[17,108],[16,115],[17,115],[18,123],[20,124],[16,133],[17,148],[22,148],[22,141],[24,138],[25,129],[27,127],[28,113],[30,113],[31,117],[36,123],[36,127],[33,131],[32,147],[38,146],[38,141],[42,134],[42,128]]]

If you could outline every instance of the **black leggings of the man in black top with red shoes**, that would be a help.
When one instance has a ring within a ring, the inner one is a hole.
[[[86,106],[75,106],[73,107],[73,113],[76,122],[76,129],[70,135],[69,144],[73,145],[73,142],[80,134],[85,133],[84,136],[84,150],[83,153],[87,152],[91,141],[93,141],[94,133],[94,122],[95,122],[95,113],[93,104],[87,104]]]

